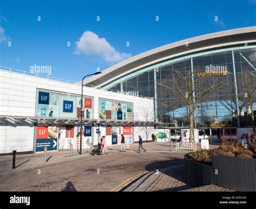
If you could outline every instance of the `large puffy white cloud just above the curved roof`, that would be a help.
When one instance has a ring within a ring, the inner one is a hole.
[[[107,62],[120,62],[131,57],[131,53],[117,51],[105,38],[99,38],[96,33],[91,31],[85,31],[76,45],[75,53],[77,55],[83,53],[84,55],[99,56]]]

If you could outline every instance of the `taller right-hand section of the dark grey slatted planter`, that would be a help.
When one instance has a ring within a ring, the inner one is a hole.
[[[212,156],[215,185],[236,191],[256,191],[256,160]]]

